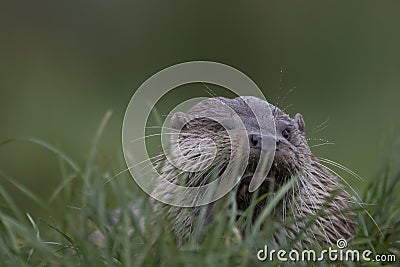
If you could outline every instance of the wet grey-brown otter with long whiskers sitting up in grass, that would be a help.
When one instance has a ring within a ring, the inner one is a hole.
[[[248,103],[257,105],[267,104],[272,112],[275,125],[275,154],[272,166],[261,186],[256,192],[249,192],[249,184],[260,158],[261,141],[263,135],[257,133],[258,123],[269,123],[257,121]],[[196,145],[207,138],[213,140],[217,147],[214,161],[202,168],[201,171],[182,172],[177,170],[166,158],[159,163],[160,176],[155,180],[153,193],[156,196],[174,197],[174,191],[166,185],[165,181],[186,186],[199,186],[209,183],[214,176],[218,178],[224,172],[230,159],[231,153],[240,153],[235,148],[240,143],[240,138],[229,137],[228,129],[210,118],[210,114],[219,114],[225,120],[231,119],[231,114],[224,113],[222,106],[227,105],[244,122],[248,134],[249,158],[244,171],[243,178],[238,182],[236,194],[237,207],[245,210],[249,207],[253,194],[259,195],[268,191],[276,192],[293,177],[297,177],[293,186],[279,201],[275,208],[273,218],[286,224],[281,229],[285,237],[294,240],[299,233],[304,232],[307,237],[301,241],[301,246],[319,244],[333,245],[339,239],[351,239],[354,225],[351,212],[351,196],[339,182],[336,173],[325,167],[310,150],[305,136],[305,123],[301,114],[297,113],[290,117],[278,107],[264,100],[251,96],[239,96],[233,99],[223,97],[208,98],[190,108],[187,112],[175,113],[171,118],[172,128],[179,130],[177,145],[183,149],[186,155],[196,157],[200,151],[196,151]],[[212,117],[212,116],[211,116]],[[230,129],[232,130],[232,129]],[[243,141],[243,140],[242,140]],[[171,150],[176,150],[171,147]],[[207,147],[205,147],[207,150]],[[204,152],[204,151],[203,151]],[[179,160],[179,159],[178,159]],[[219,201],[219,200],[217,200]],[[268,204],[264,199],[257,204],[254,217],[262,212]],[[210,203],[209,212],[205,223],[213,214],[213,205]],[[167,205],[158,201],[154,202],[154,210],[157,216],[167,218],[171,221],[179,244],[190,239],[193,224],[199,216],[198,207],[178,207]],[[304,218],[315,216],[315,220],[307,223]],[[252,218],[254,220],[255,218]],[[276,238],[281,233],[276,234]],[[274,236],[275,237],[275,236]]]

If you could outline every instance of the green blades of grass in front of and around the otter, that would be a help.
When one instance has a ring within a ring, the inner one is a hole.
[[[195,225],[193,239],[179,248],[166,221],[154,221],[150,199],[133,182],[128,172],[110,179],[109,169],[99,156],[101,135],[110,118],[103,118],[88,153],[84,166],[79,166],[62,150],[35,138],[10,139],[8,142],[31,142],[53,152],[59,159],[62,181],[51,197],[45,201],[33,194],[16,179],[0,172],[0,265],[1,266],[266,266],[281,262],[260,262],[258,249],[271,242],[274,231],[282,227],[268,223],[263,231],[248,227],[246,237],[237,228],[239,214],[234,199],[220,207],[208,225]],[[354,249],[369,249],[374,254],[395,254],[400,261],[400,142],[383,159],[376,179],[362,192],[362,203],[355,205],[358,232],[349,244]],[[124,164],[121,160],[121,169]],[[12,183],[22,194],[35,202],[48,214],[62,210],[63,216],[33,217],[24,213],[12,196],[2,186]],[[265,196],[264,196],[265,197]],[[278,196],[279,197],[279,194]],[[257,200],[255,200],[257,201]],[[134,216],[130,205],[141,211]],[[229,205],[233,204],[233,205]],[[254,202],[256,203],[256,202]],[[274,201],[262,216],[268,221]],[[367,205],[368,204],[368,205]],[[121,208],[118,224],[112,223],[109,214]],[[228,209],[229,212],[228,212]],[[251,212],[251,209],[248,211]],[[145,231],[141,230],[144,218]],[[315,218],[314,218],[315,219]],[[104,234],[102,246],[91,240],[99,229]],[[199,234],[200,231],[205,233]],[[301,237],[299,237],[301,238]],[[280,248],[290,248],[281,244]],[[301,262],[304,266],[315,263]],[[298,265],[296,264],[296,265]],[[318,265],[328,265],[320,262]],[[358,266],[360,263],[342,263]],[[290,265],[290,264],[289,264]],[[364,263],[379,266],[379,263]],[[291,264],[293,266],[293,264]]]

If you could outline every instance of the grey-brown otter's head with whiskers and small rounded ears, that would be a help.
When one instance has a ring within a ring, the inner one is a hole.
[[[251,107],[250,107],[251,106]],[[255,109],[258,109],[255,111]],[[255,115],[257,112],[257,116]],[[259,116],[269,113],[269,117]],[[272,117],[272,120],[271,120]],[[240,120],[240,123],[239,123]],[[272,122],[272,123],[271,123]],[[272,125],[271,125],[272,124]],[[172,128],[179,132],[175,147],[180,151],[176,158],[186,166],[192,175],[192,185],[209,182],[225,171],[231,154],[241,155],[244,143],[248,145],[248,158],[239,191],[248,194],[248,186],[263,155],[265,133],[261,128],[273,128],[275,156],[272,167],[265,173],[261,190],[267,190],[271,180],[282,184],[307,161],[311,153],[304,135],[304,121],[301,114],[289,117],[279,108],[256,97],[242,96],[234,99],[209,98],[193,106],[186,113],[177,112],[171,118]],[[262,127],[261,127],[261,126]],[[245,130],[245,133],[243,131]],[[240,134],[236,134],[237,132]],[[243,140],[247,139],[247,140]],[[176,147],[178,146],[178,147]],[[210,159],[212,162],[210,162]],[[235,178],[233,178],[235,179]]]

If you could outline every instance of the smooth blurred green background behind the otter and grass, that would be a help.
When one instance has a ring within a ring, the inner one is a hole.
[[[335,143],[314,153],[372,179],[400,126],[399,11],[399,1],[2,1],[0,140],[38,137],[84,163],[112,109],[101,151],[117,162],[136,88],[173,64],[211,60],[246,73],[272,103],[296,87],[280,106],[303,114],[310,138]],[[0,170],[43,199],[60,182],[57,158],[26,142],[0,147]]]

